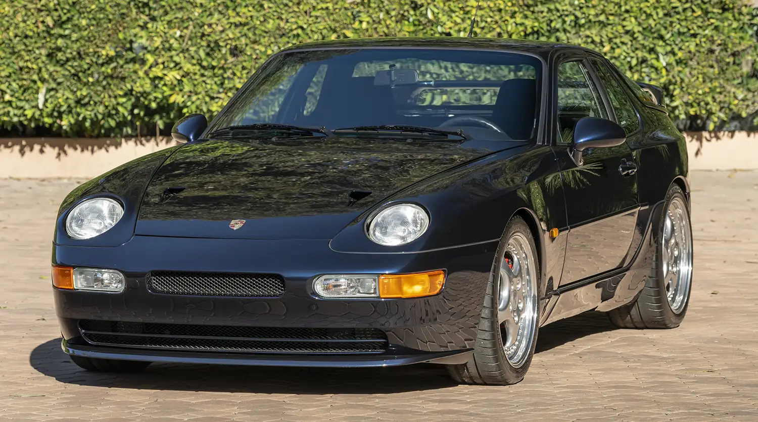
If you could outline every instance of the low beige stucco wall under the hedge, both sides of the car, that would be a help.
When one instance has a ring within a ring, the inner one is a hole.
[[[758,169],[758,133],[686,133],[691,170]],[[89,179],[158,149],[170,138],[0,139],[0,177]]]

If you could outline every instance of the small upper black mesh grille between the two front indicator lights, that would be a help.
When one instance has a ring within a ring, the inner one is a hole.
[[[284,279],[279,274],[152,271],[147,286],[151,292],[168,295],[263,298],[284,294]]]

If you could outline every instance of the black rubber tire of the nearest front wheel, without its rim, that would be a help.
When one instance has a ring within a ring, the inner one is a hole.
[[[517,231],[524,234],[528,239],[537,269],[537,320],[534,327],[534,338],[530,349],[528,349],[526,360],[521,366],[513,367],[506,358],[503,349],[503,333],[501,333],[500,323],[497,320],[498,294],[496,292],[499,292],[500,289],[500,286],[497,286],[500,283],[498,275],[500,274],[500,258],[506,252],[509,239]],[[503,232],[490,271],[490,282],[487,283],[487,292],[484,295],[484,305],[481,310],[474,354],[465,364],[447,365],[448,372],[453,380],[458,383],[503,386],[515,384],[524,379],[534,356],[534,347],[537,345],[537,333],[544,305],[540,298],[544,297],[545,287],[540,279],[539,255],[537,255],[534,237],[525,221],[521,217],[514,217]]]

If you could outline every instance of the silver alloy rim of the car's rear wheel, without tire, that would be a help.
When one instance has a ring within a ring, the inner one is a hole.
[[[675,314],[684,311],[692,280],[692,230],[684,201],[673,198],[666,210],[661,239],[663,285]]]

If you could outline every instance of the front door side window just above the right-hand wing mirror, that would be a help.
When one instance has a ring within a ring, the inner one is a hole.
[[[574,127],[584,117],[608,118],[597,86],[581,61],[568,61],[558,67],[559,143],[570,144]]]

